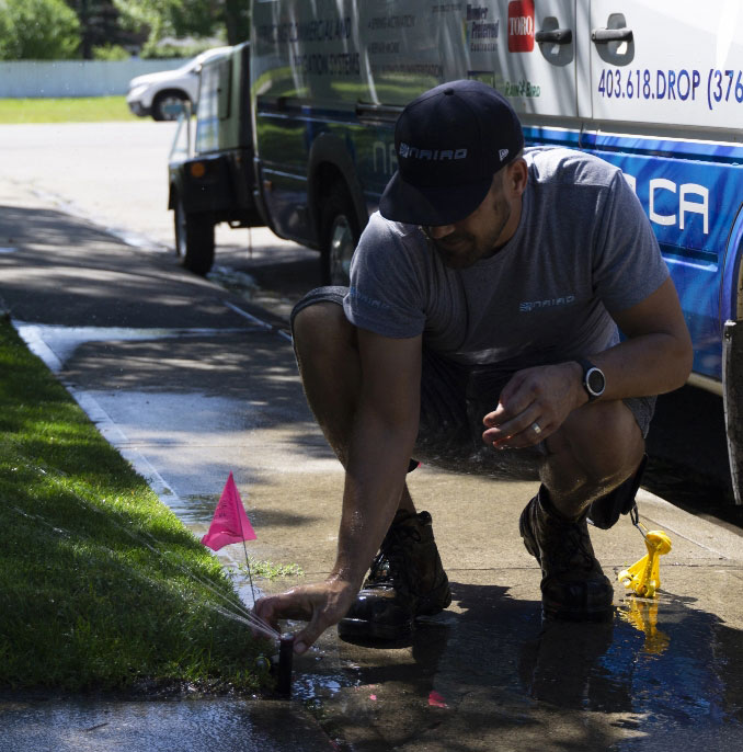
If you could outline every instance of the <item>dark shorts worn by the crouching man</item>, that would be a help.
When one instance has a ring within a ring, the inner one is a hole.
[[[318,287],[292,311],[295,316],[316,303],[343,305],[347,287]],[[538,479],[547,454],[544,442],[525,449],[495,452],[482,441],[482,418],[498,406],[498,396],[515,373],[498,364],[465,365],[442,357],[423,346],[421,419],[415,440],[415,459],[455,472]],[[642,435],[648,435],[655,409],[654,397],[624,400]]]

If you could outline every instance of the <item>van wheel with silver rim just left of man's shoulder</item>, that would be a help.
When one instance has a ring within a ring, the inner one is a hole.
[[[322,212],[322,284],[347,285],[351,257],[358,242],[358,220],[345,186],[335,184]]]

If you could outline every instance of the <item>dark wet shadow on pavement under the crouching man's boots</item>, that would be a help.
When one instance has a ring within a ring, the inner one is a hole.
[[[605,624],[542,623],[538,603],[507,591],[453,583],[460,613],[422,623],[405,646],[339,641],[333,671],[305,670],[298,696],[354,750],[743,743],[743,633],[693,599],[621,602]]]

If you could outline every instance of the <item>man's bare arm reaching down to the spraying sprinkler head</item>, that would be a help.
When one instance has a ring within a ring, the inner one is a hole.
[[[362,389],[348,447],[338,556],[330,577],[261,599],[259,616],[309,622],[295,637],[304,652],[340,622],[363,584],[405,482],[420,410],[421,338],[389,339],[358,331]]]

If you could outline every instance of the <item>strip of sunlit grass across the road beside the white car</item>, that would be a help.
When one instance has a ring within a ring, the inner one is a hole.
[[[99,123],[139,119],[124,96],[70,96],[66,99],[0,99],[0,124]]]

